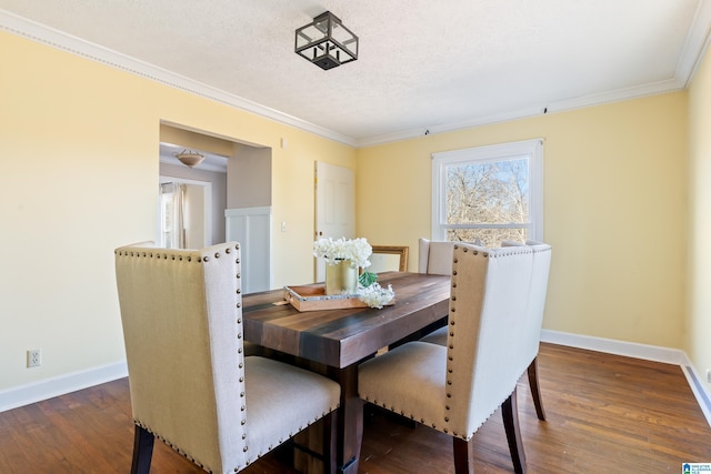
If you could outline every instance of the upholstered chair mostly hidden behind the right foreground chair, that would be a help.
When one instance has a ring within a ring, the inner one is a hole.
[[[531,284],[527,295],[527,317],[525,324],[531,326],[531,333],[538,331],[539,335],[543,326],[543,310],[545,307],[545,294],[548,291],[548,276],[551,266],[551,246],[543,242],[532,240],[525,243],[504,240],[501,246],[530,246],[533,250],[533,273],[531,275]],[[448,329],[441,327],[437,331],[420,339],[420,341],[433,344],[447,345]],[[541,397],[541,387],[538,376],[538,353],[540,349],[540,336],[538,340],[530,339],[527,341],[524,349],[531,363],[529,364],[527,374],[535,414],[539,420],[545,420],[545,410],[543,409],[543,399]]]

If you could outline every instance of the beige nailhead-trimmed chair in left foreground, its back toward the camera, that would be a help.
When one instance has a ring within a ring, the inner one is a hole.
[[[334,471],[340,386],[244,356],[239,244],[124,246],[116,274],[136,423],[132,473],[149,472],[156,436],[208,472],[239,472],[323,416],[324,471]]]

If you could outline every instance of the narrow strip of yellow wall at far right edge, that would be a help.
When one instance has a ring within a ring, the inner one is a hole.
[[[689,89],[689,118],[690,284],[684,349],[703,377],[711,369],[711,54],[708,53]]]

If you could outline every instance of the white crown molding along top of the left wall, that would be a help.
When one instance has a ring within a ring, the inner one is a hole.
[[[254,113],[273,121],[293,127],[317,135],[356,147],[356,140],[323,127],[307,122],[278,110],[261,105],[257,102],[227,93],[204,83],[193,81],[183,75],[156,67],[148,62],[131,58],[127,54],[103,48],[101,46],[67,34],[62,31],[49,28],[34,21],[18,17],[0,9],[0,31],[7,31],[19,37],[37,41],[91,61],[97,61],[126,72],[140,75],[164,85],[191,92],[196,95],[213,100],[239,110]]]

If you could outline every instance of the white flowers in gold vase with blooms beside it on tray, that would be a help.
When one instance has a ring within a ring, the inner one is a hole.
[[[378,275],[368,272],[372,248],[363,238],[333,240],[319,239],[313,242],[313,255],[326,260],[326,296],[357,296],[371,307],[382,307],[394,297],[392,286],[380,286]],[[363,273],[358,276],[358,269]],[[353,306],[349,306],[353,307]]]

